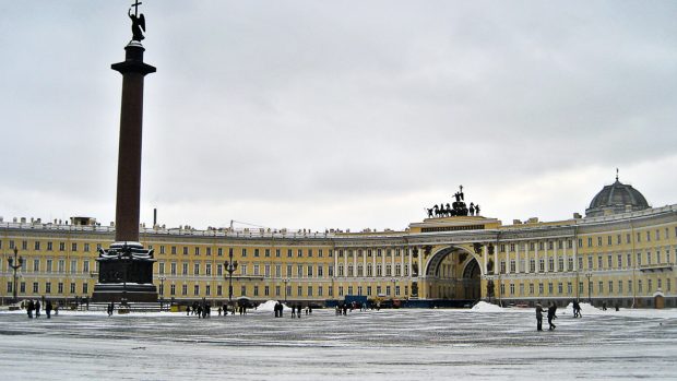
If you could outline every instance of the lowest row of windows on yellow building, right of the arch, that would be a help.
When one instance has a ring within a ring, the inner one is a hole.
[[[672,291],[672,282],[670,278],[665,278],[665,282],[663,282],[664,279],[662,278],[657,278],[655,286],[656,288],[654,289],[654,279],[646,279],[646,293],[653,293],[657,289],[663,290],[663,285],[665,285],[665,291]],[[618,294],[618,295],[622,295],[623,294],[623,283],[627,285],[627,291],[628,293],[632,293],[632,279],[629,281],[606,281],[606,288],[605,288],[605,282],[604,281],[598,281],[597,282],[597,287],[596,287],[596,295],[611,295],[611,294]],[[614,285],[616,285],[616,287],[614,287]],[[538,294],[535,294],[535,288],[536,285],[533,283],[528,283],[526,284],[526,286],[528,286],[528,294],[525,294],[525,284],[524,283],[520,283],[519,285],[519,294],[515,294],[515,284],[514,283],[510,283],[508,284],[508,291],[510,296],[534,296],[534,295],[544,295],[545,294],[545,283],[538,283]],[[567,282],[566,283],[567,286],[567,293],[565,294],[565,283],[559,282],[557,283],[557,295],[566,295],[566,296],[574,296],[573,295],[573,284],[571,282]],[[506,284],[501,284],[500,285],[500,293],[501,295],[506,295]],[[580,297],[583,297],[584,294],[587,293],[589,296],[595,296],[595,287],[593,282],[589,282],[587,283],[587,290],[585,289],[585,283],[584,282],[579,282],[579,291],[578,295]],[[606,293],[606,294],[605,294]],[[638,294],[643,294],[644,293],[644,283],[642,282],[642,279],[637,281],[637,293]],[[547,294],[548,295],[556,295],[555,294],[555,284],[554,283],[547,283]]]

